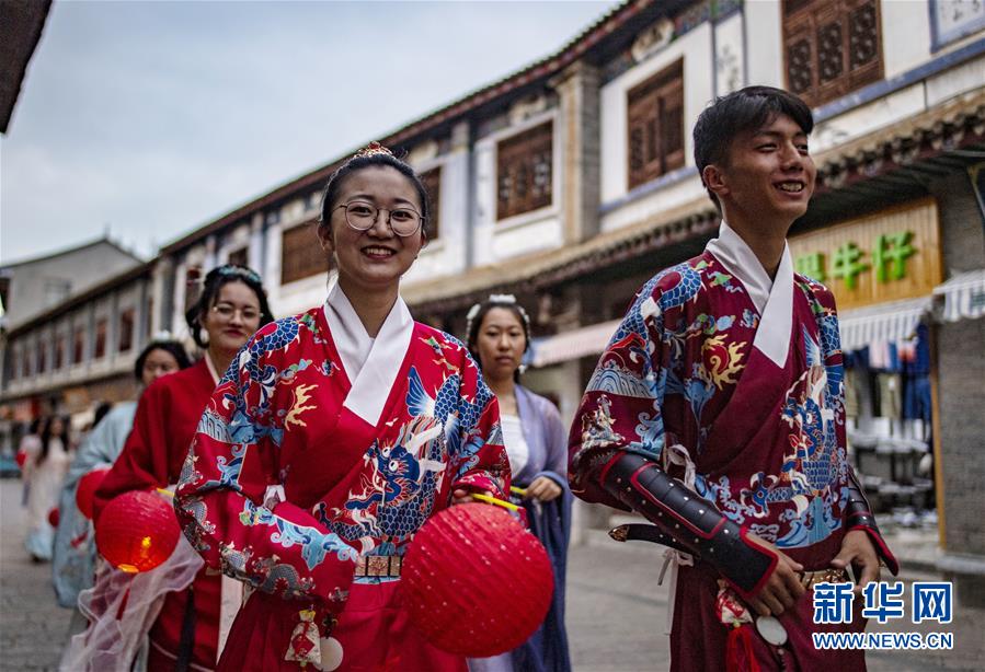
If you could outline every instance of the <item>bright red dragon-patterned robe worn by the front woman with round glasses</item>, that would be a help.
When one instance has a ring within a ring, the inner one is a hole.
[[[185,464],[185,534],[207,565],[254,589],[219,669],[297,670],[334,617],[340,669],[463,670],[410,627],[399,578],[354,580],[354,569],[360,556],[393,566],[453,488],[504,497],[495,398],[467,349],[412,322],[402,301],[351,381],[327,310],[257,332]]]

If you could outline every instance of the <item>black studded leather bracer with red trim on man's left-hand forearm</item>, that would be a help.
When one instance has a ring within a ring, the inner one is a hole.
[[[744,598],[758,593],[776,568],[776,554],[747,541],[744,528],[651,460],[620,452],[599,476],[607,493],[714,567]]]

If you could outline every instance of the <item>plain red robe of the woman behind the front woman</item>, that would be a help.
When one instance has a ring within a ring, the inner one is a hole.
[[[177,483],[188,444],[215,386],[215,378],[203,358],[193,367],[158,379],[144,392],[134,429],[95,494],[96,520],[103,507],[117,495]],[[192,664],[205,670],[216,665],[220,578],[218,572],[203,568],[192,584],[195,592]],[[186,604],[187,591],[168,593],[150,630],[149,670],[174,669]]]

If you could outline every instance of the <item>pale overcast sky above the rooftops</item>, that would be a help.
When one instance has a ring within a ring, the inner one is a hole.
[[[107,229],[149,257],[616,4],[55,0],[0,137],[0,260]]]

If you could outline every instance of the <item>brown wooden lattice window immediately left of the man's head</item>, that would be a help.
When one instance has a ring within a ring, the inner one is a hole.
[[[629,188],[684,165],[684,61],[627,93]]]

